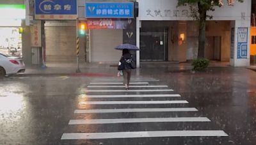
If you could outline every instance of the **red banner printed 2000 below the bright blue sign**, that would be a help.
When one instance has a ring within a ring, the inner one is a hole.
[[[87,18],[88,29],[127,29],[132,19]]]

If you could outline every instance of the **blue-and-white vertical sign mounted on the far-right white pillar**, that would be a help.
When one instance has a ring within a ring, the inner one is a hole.
[[[239,27],[237,30],[237,59],[247,59],[248,28]]]

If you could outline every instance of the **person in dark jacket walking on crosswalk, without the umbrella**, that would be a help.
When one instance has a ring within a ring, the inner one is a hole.
[[[125,89],[128,90],[130,79],[131,79],[131,69],[134,69],[134,67],[132,66],[132,63],[133,63],[132,55],[128,49],[123,50],[120,62],[124,66],[122,70],[123,76],[124,76],[124,85],[125,85]]]

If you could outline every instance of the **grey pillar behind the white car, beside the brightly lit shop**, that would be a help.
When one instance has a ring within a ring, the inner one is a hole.
[[[26,26],[24,20],[22,20],[22,27],[24,29],[24,32],[22,33],[22,57],[25,65],[31,66],[31,29],[30,26]]]

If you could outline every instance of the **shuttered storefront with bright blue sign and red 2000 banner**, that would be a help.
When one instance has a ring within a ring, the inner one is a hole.
[[[88,62],[118,62],[121,51],[114,48],[123,43],[136,45],[134,3],[85,3],[90,45]],[[136,52],[134,57],[136,57]]]

